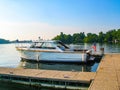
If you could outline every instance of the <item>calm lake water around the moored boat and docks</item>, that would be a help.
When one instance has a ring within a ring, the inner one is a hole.
[[[82,44],[75,46],[76,48],[91,49],[92,44]],[[97,51],[100,48],[105,49],[105,53],[120,53],[120,45],[117,44],[97,44]],[[88,71],[95,72],[99,62],[80,65],[80,64],[63,64],[63,63],[35,63],[21,61],[19,52],[15,49],[15,44],[0,44],[0,67],[23,67],[34,69],[64,70],[64,71]],[[50,90],[38,89],[29,86],[19,86],[11,83],[0,82],[0,90]]]

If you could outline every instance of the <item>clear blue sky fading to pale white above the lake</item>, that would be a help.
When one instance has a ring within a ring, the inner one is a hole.
[[[120,0],[0,0],[0,38],[51,39],[120,28]]]

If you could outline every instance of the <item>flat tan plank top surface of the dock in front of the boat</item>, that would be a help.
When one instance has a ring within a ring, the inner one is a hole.
[[[19,69],[19,68],[2,68],[1,67],[0,74],[90,83],[90,81],[94,79],[94,76],[96,73],[95,72],[73,72],[73,71],[37,70],[37,69]]]

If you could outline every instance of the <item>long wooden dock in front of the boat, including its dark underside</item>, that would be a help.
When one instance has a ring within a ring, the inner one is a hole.
[[[89,87],[94,76],[95,72],[0,68],[2,81],[53,88],[81,89],[80,85]]]

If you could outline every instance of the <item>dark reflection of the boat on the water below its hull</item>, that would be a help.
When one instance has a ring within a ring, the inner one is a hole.
[[[60,71],[81,71],[81,72],[92,72],[94,69],[93,64],[73,64],[73,63],[41,63],[35,61],[21,60],[19,68],[29,69],[45,69],[45,70],[60,70]],[[95,71],[96,69],[94,69]]]

